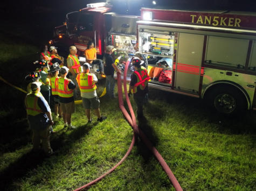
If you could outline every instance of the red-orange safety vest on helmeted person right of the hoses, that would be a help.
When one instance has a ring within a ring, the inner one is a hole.
[[[141,90],[144,90],[150,80],[148,76],[147,69],[144,67],[139,68],[137,71],[134,71],[134,74],[137,76],[137,83],[133,87],[133,93],[137,92],[139,87]]]

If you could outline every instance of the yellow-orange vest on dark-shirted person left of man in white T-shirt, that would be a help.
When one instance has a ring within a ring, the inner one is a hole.
[[[59,97],[62,98],[71,98],[73,97],[73,91],[68,88],[68,84],[70,83],[71,79],[59,77],[55,80],[56,90],[58,92]]]

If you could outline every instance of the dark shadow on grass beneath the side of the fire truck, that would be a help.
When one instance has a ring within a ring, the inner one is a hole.
[[[215,124],[219,133],[226,134],[255,134],[256,117],[255,111],[245,111],[237,115],[223,115],[215,109],[207,106],[202,99],[182,96],[175,93],[150,89],[150,105],[147,106],[147,113],[153,119],[164,119],[172,116],[177,121],[190,123],[191,121],[207,122]],[[152,101],[153,100],[153,101]],[[154,101],[156,100],[156,102]],[[159,101],[166,102],[163,105]],[[161,106],[162,105],[162,106]],[[170,111],[168,111],[170,107]],[[210,131],[210,129],[209,129]]]

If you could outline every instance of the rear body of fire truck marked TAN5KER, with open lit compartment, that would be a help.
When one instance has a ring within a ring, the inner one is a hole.
[[[255,107],[254,16],[142,9],[141,18],[140,51],[172,59],[160,66],[172,71],[171,83],[156,79],[150,86],[208,98],[222,113]]]

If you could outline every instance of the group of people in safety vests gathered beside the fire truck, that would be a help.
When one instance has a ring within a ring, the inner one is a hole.
[[[86,63],[80,64],[77,56],[77,48],[70,47],[67,57],[67,66],[64,66],[64,58],[58,55],[57,48],[51,46],[48,50],[44,46],[40,60],[34,62],[36,71],[26,76],[30,83],[27,86],[25,106],[27,120],[33,131],[33,151],[43,149],[47,156],[52,155],[50,135],[54,133],[53,120],[63,119],[64,128],[75,129],[71,123],[71,116],[75,112],[74,100],[80,97],[88,123],[92,122],[91,109],[95,110],[97,121],[102,122],[107,117],[100,114],[100,100],[96,94],[95,74],[90,73],[92,64],[98,64],[101,75],[106,75],[106,92],[109,98],[115,98],[114,71],[121,74],[116,67],[112,53],[113,46],[107,46],[103,55],[103,62],[96,58],[96,49],[93,42],[88,43],[85,50]],[[132,92],[137,105],[137,117],[143,117],[143,103],[147,101],[149,76],[147,69],[141,64],[141,55],[136,53],[132,60],[135,69],[131,76],[129,97]],[[104,72],[103,72],[104,68]],[[67,78],[68,76],[68,78]],[[50,101],[53,102],[54,114],[51,113]],[[41,142],[41,146],[40,146]]]

